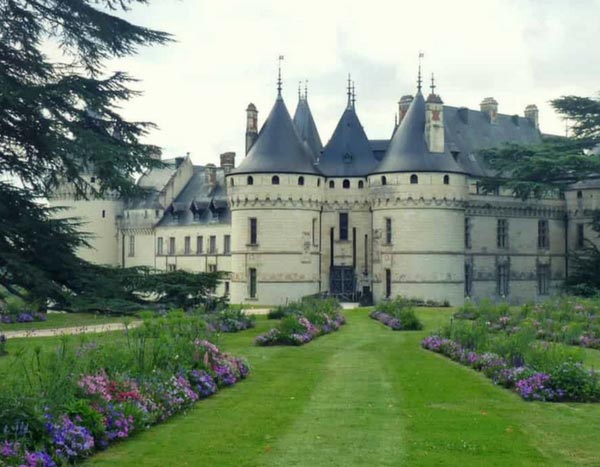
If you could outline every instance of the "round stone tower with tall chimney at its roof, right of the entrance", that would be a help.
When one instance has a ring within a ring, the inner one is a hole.
[[[464,302],[467,180],[445,148],[442,100],[412,100],[369,175],[375,301]]]

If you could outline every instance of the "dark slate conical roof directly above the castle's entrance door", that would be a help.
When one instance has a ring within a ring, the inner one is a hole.
[[[354,104],[348,100],[348,106],[323,149],[319,170],[333,177],[358,177],[367,175],[376,164],[377,159]]]

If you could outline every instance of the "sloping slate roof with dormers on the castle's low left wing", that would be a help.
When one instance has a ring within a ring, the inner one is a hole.
[[[165,210],[158,225],[227,224],[231,222],[231,212],[227,206],[225,173],[217,168],[214,187],[206,180],[206,169],[194,166],[194,174],[181,193]]]

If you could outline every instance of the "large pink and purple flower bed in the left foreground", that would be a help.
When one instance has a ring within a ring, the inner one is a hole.
[[[45,361],[38,355],[52,374],[42,373],[34,392],[0,399],[0,465],[73,464],[247,377],[241,359],[205,339],[188,341],[201,324],[189,321],[145,323],[125,342],[104,349],[95,343],[76,351],[61,345]],[[119,347],[125,349],[119,353]],[[144,350],[152,354],[150,361]],[[71,371],[94,365],[91,371]]]

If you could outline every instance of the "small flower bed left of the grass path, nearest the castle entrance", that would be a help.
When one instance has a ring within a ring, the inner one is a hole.
[[[288,305],[276,328],[255,339],[256,345],[304,345],[346,324],[334,300],[307,300]]]

